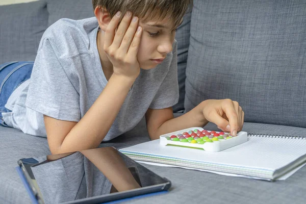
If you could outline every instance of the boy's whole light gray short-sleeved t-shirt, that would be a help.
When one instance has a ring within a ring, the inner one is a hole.
[[[3,114],[9,126],[46,137],[43,114],[68,121],[79,121],[86,114],[108,83],[97,49],[97,31],[95,17],[60,19],[45,31],[31,79],[15,90],[6,105],[12,110]],[[177,103],[176,44],[163,63],[141,69],[104,141],[133,129],[148,108]]]

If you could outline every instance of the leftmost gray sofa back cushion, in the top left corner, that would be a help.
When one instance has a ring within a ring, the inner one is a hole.
[[[0,64],[34,61],[47,21],[45,1],[0,6]]]

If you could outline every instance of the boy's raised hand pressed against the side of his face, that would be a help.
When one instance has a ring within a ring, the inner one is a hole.
[[[138,27],[138,17],[127,11],[118,30],[121,12],[112,18],[105,32],[104,51],[113,64],[114,73],[128,78],[137,78],[140,66],[137,61],[142,28]]]

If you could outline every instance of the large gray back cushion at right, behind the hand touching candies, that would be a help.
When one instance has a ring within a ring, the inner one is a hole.
[[[231,98],[245,121],[306,127],[305,1],[195,0],[186,111]]]

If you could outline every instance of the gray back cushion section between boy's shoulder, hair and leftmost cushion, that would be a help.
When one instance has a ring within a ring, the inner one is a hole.
[[[61,18],[74,20],[94,17],[92,1],[88,0],[46,0],[49,12],[48,25]]]

